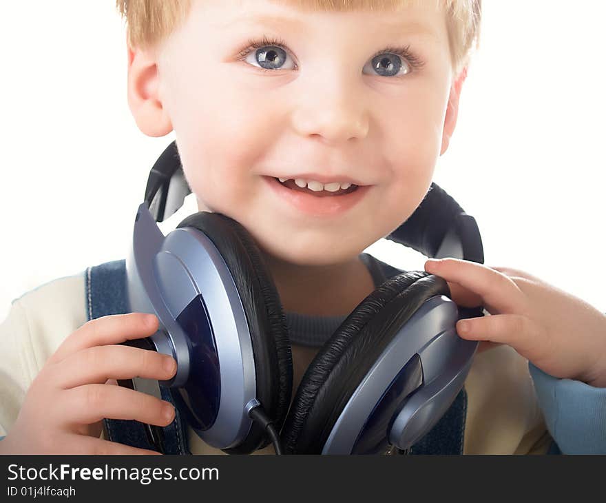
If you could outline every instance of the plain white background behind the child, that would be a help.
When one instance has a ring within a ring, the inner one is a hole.
[[[435,176],[477,219],[486,265],[526,270],[600,311],[605,18],[596,0],[484,1]],[[149,138],[132,119],[113,1],[3,2],[0,51],[1,319],[25,291],[125,257],[149,169],[174,136]],[[196,211],[186,201],[165,234]],[[386,240],[367,251],[423,269]]]

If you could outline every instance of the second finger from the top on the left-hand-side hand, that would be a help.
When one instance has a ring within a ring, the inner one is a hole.
[[[104,384],[108,379],[168,380],[176,371],[176,361],[149,349],[109,345],[76,351],[49,370],[47,379],[54,386],[70,389],[82,384]]]

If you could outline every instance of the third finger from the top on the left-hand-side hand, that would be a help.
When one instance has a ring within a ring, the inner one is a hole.
[[[92,424],[103,418],[137,420],[167,426],[175,417],[175,408],[155,396],[121,386],[85,384],[59,393],[58,411],[70,411],[63,424]]]

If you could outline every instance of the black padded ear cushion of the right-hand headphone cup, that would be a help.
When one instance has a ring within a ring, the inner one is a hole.
[[[386,280],[354,309],[301,380],[282,429],[286,453],[322,452],[339,415],[382,351],[417,309],[437,295],[450,298],[446,280],[408,271]]]

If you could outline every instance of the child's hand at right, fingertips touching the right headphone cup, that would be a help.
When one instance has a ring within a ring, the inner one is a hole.
[[[507,267],[443,258],[425,270],[446,280],[457,305],[493,315],[465,320],[468,331],[459,321],[461,338],[510,345],[554,377],[606,387],[606,315],[587,302]]]

